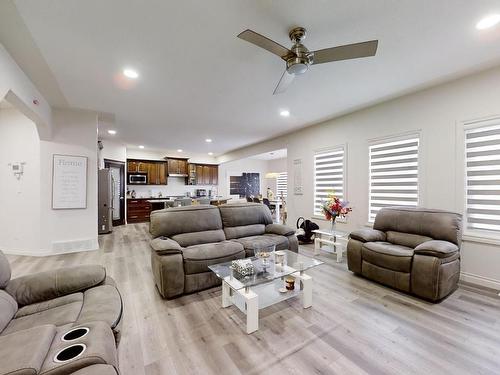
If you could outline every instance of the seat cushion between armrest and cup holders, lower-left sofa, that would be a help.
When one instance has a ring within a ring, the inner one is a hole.
[[[30,305],[28,305],[27,307],[29,306]],[[43,324],[63,326],[65,324],[74,323],[80,315],[81,309],[82,300],[79,300],[52,307],[47,310],[41,310],[33,314],[19,316],[10,321],[10,323],[2,332],[2,335],[29,329],[31,327],[36,327]],[[22,310],[23,308],[19,309],[19,311]]]

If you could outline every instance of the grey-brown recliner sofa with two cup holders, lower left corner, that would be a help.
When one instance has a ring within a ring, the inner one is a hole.
[[[0,375],[116,375],[121,317],[120,293],[102,266],[11,279],[0,251]]]

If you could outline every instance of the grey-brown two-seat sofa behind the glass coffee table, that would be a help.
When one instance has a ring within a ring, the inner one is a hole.
[[[254,255],[259,246],[298,251],[295,230],[273,224],[263,204],[187,206],[154,211],[151,267],[164,298],[220,285],[209,265]]]

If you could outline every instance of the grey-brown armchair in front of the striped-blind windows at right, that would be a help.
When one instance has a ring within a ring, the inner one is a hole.
[[[373,229],[351,233],[351,271],[381,284],[438,301],[457,288],[462,215],[426,208],[388,207]]]

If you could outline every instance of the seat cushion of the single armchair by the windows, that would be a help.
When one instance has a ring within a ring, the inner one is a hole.
[[[410,272],[413,249],[389,242],[366,242],[361,248],[364,261],[397,272]]]

